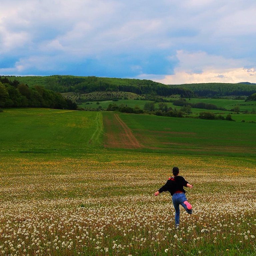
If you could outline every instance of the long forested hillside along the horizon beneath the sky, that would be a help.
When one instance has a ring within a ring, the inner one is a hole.
[[[138,95],[170,96],[174,94],[181,97],[223,97],[223,96],[249,96],[256,92],[256,84],[251,83],[199,83],[165,85],[151,80],[105,77],[78,77],[78,76],[24,76],[8,77],[9,80],[18,80],[30,86],[40,85],[55,92],[90,93],[95,91],[131,92]]]

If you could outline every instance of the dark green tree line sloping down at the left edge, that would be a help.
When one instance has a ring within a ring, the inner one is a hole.
[[[8,107],[77,109],[76,103],[64,99],[60,93],[38,85],[28,87],[18,80],[0,76],[0,108]]]

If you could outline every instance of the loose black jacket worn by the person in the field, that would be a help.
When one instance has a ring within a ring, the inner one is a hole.
[[[158,191],[162,193],[164,191],[169,191],[173,195],[176,191],[181,191],[186,193],[183,187],[187,187],[188,182],[182,176],[170,177],[165,185],[163,185]]]

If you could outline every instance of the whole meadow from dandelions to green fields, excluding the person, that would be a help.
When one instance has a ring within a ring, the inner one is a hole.
[[[5,110],[0,254],[255,255],[254,126]],[[115,137],[125,143],[111,144]],[[193,214],[182,209],[178,229],[171,196],[153,196],[175,165],[194,186]]]

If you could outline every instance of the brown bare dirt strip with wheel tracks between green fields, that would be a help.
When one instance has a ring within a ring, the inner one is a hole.
[[[109,148],[141,148],[142,145],[132,134],[131,129],[118,114],[113,114],[112,120],[104,117],[104,146]]]

